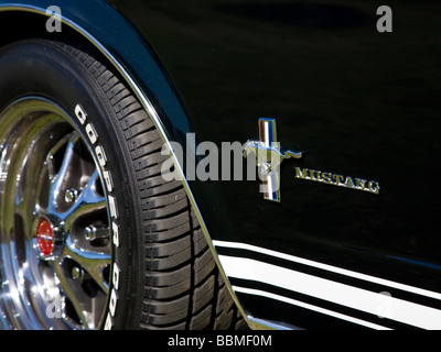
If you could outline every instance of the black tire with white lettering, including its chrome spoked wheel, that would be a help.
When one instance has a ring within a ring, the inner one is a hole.
[[[1,48],[1,328],[245,327],[162,145],[99,52]]]

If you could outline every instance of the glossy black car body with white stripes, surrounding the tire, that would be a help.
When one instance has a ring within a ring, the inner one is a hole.
[[[22,23],[20,37],[50,6],[1,1],[0,15]],[[440,328],[438,3],[58,7],[63,30],[157,111],[165,142],[258,141],[259,119],[273,118],[283,150],[303,152],[280,165],[280,201],[263,199],[259,179],[184,182],[251,328]]]

